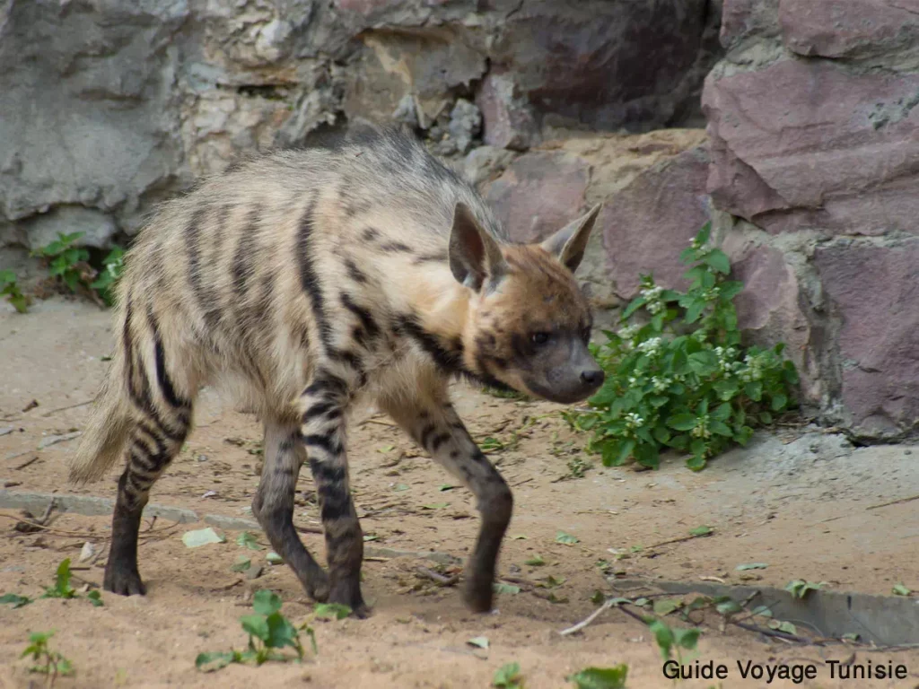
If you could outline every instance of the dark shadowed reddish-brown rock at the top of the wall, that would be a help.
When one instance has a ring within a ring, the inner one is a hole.
[[[514,73],[539,113],[599,129],[660,126],[692,91],[683,77],[702,47],[708,8],[707,0],[536,0],[506,18],[491,60]]]

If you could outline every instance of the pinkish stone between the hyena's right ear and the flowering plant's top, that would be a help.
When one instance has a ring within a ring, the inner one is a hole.
[[[619,297],[638,293],[642,273],[664,287],[688,286],[679,254],[709,220],[708,170],[705,148],[691,149],[653,164],[607,199],[597,223]]]

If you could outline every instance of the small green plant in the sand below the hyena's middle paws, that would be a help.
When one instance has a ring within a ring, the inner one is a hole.
[[[297,627],[281,615],[281,599],[277,593],[262,590],[255,593],[252,600],[255,615],[240,617],[246,634],[249,635],[248,648],[245,650],[215,651],[199,653],[195,666],[202,672],[214,672],[226,667],[231,662],[254,662],[261,665],[266,661],[300,661],[303,658],[303,645]],[[301,626],[312,641],[312,650],[316,652],[316,638],[312,628]],[[290,647],[297,652],[296,658],[281,653]]]

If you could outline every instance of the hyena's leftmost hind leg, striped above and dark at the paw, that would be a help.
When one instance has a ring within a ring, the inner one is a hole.
[[[153,412],[146,420],[136,422],[131,432],[128,462],[118,482],[112,516],[112,542],[103,582],[106,591],[120,595],[146,593],[137,568],[141,515],[153,483],[182,449],[191,423],[190,403],[174,411],[168,422]]]

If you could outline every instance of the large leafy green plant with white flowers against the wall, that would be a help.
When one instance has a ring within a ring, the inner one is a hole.
[[[743,283],[727,279],[728,256],[708,245],[709,232],[710,223],[680,254],[691,265],[685,293],[641,276],[623,327],[592,345],[607,380],[589,400],[590,411],[566,418],[593,432],[588,448],[607,467],[633,457],[656,469],[661,450],[672,447],[691,455],[689,469],[704,469],[710,457],[732,442],[746,444],[756,425],[771,424],[773,413],[792,405],[798,374],[783,360],[785,345],[743,347],[733,304]]]

